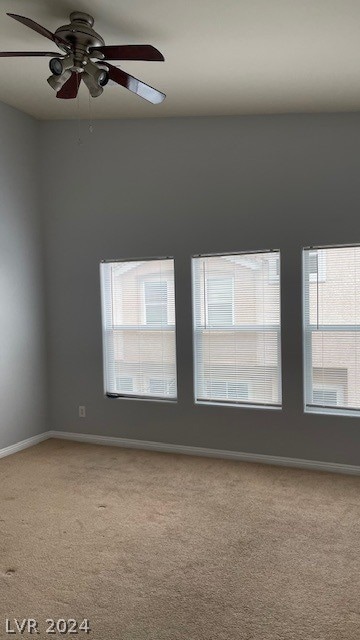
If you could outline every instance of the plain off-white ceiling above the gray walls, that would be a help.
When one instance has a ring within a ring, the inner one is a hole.
[[[1,50],[56,50],[6,12],[55,31],[71,11],[92,14],[106,44],[160,49],[165,62],[122,66],[165,102],[117,85],[89,100],[83,84],[58,100],[48,58],[0,59],[0,101],[38,119],[360,110],[359,0],[0,0]]]

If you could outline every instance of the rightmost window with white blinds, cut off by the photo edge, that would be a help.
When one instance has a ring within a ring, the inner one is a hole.
[[[305,409],[360,415],[360,247],[304,249]]]

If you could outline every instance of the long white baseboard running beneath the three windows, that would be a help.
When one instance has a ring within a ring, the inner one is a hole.
[[[165,442],[153,442],[152,440],[133,440],[130,438],[114,438],[110,436],[94,436],[88,433],[72,433],[67,431],[48,431],[48,438],[72,440],[74,442],[87,442],[89,444],[101,444],[109,447],[123,447],[125,449],[142,449],[145,451],[159,451],[164,453],[179,453],[189,456],[203,456],[206,458],[221,458],[225,460],[240,460],[242,462],[257,462],[281,467],[294,467],[296,469],[310,469],[313,471],[327,471],[330,473],[343,473],[348,475],[360,475],[360,467],[337,462],[320,462],[317,460],[302,460],[299,458],[285,458],[283,456],[271,456],[260,453],[245,453],[241,451],[226,451],[223,449],[208,449],[204,447],[190,447],[180,444],[168,444]]]

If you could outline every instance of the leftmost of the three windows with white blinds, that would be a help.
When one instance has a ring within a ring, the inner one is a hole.
[[[100,265],[105,393],[176,399],[174,260]]]

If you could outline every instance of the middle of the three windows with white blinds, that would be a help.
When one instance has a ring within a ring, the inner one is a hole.
[[[195,399],[281,406],[280,252],[192,261]]]

